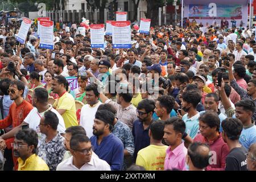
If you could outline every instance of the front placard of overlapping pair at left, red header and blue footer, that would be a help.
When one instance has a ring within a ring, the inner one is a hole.
[[[40,20],[40,48],[53,49],[53,21]]]

